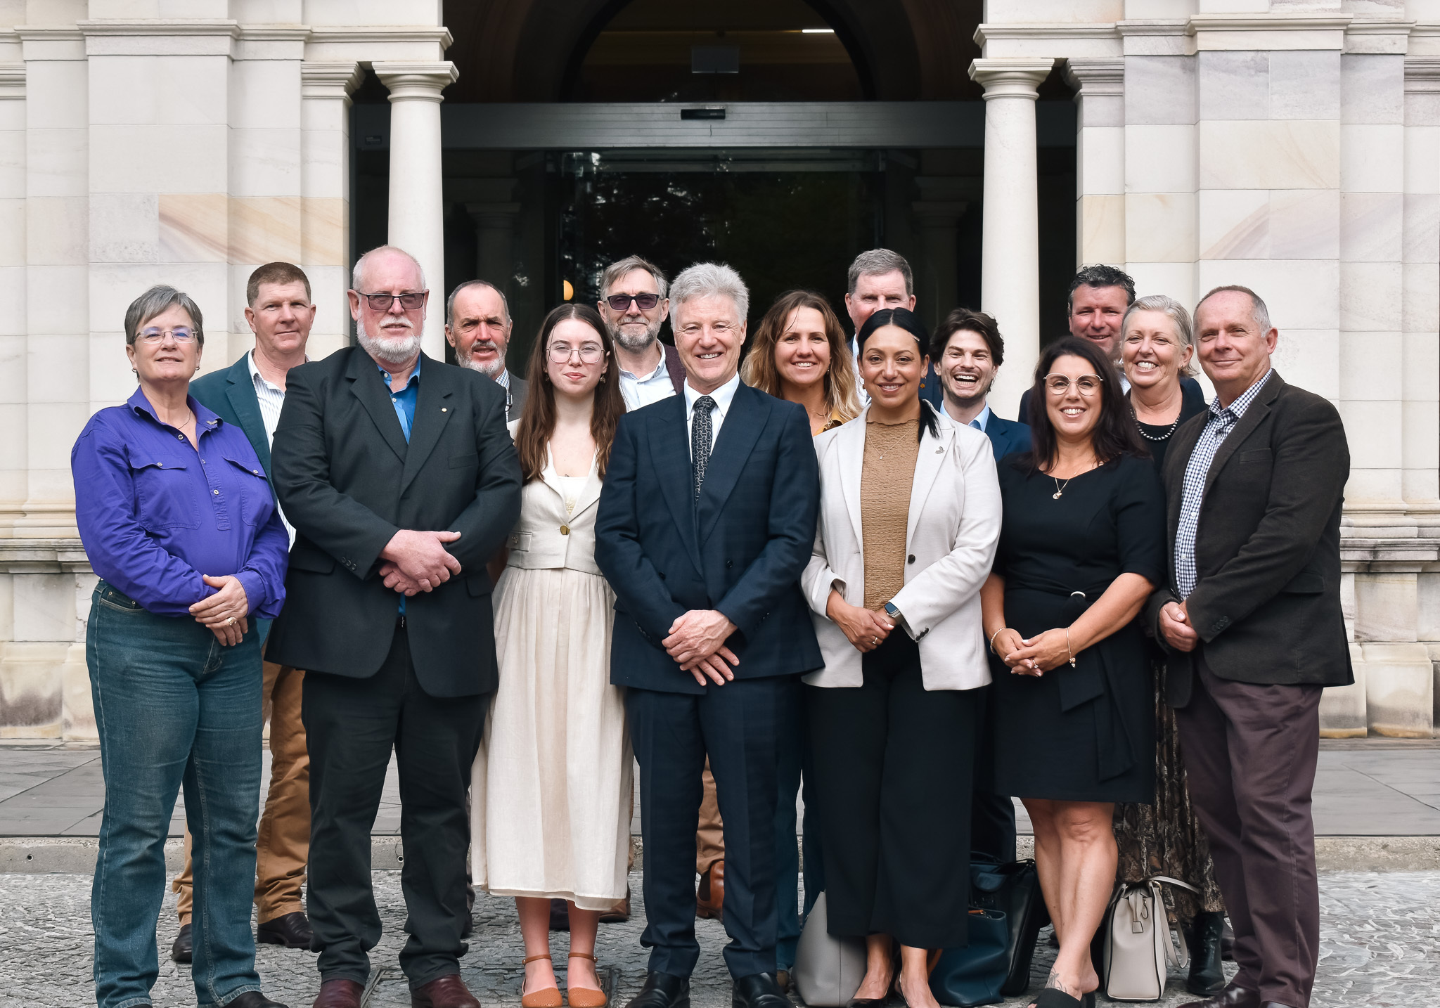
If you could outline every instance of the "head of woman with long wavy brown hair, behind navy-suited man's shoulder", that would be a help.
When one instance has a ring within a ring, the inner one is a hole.
[[[804,406],[811,433],[860,416],[845,330],[815,291],[786,291],[770,305],[740,366],[740,380]]]

